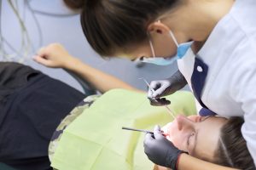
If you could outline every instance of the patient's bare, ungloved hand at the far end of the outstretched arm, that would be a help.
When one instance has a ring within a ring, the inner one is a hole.
[[[68,54],[67,50],[59,43],[51,43],[44,48],[40,48],[33,59],[41,65],[64,69],[68,69],[71,65],[79,62],[79,59]]]

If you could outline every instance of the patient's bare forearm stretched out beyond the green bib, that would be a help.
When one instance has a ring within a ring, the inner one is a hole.
[[[133,88],[128,83],[123,82],[116,77],[99,71],[90,65],[84,64],[77,58],[73,58],[73,60],[68,65],[64,66],[64,69],[73,71],[73,73],[79,75],[79,77],[83,78],[87,82],[90,82],[92,87],[96,88],[102,93],[105,93],[113,88],[124,88],[128,90],[140,91],[139,89]]]

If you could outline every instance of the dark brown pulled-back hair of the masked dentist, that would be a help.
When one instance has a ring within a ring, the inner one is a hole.
[[[146,42],[148,25],[181,0],[84,0],[81,25],[102,56]]]

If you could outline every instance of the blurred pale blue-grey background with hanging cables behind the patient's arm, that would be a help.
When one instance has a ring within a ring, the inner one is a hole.
[[[146,84],[138,78],[144,77],[150,82],[171,77],[177,71],[176,63],[137,65],[125,59],[102,59],[84,37],[79,12],[67,8],[63,0],[0,0],[1,61],[31,65],[82,91],[79,83],[66,71],[46,68],[32,60],[39,48],[52,42],[61,43],[70,54],[85,63],[143,90],[147,89]]]

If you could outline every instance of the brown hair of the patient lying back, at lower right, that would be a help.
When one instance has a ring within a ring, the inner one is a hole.
[[[253,158],[247,150],[247,142],[241,135],[241,117],[231,117],[221,129],[215,162],[218,165],[243,170],[255,169]]]

